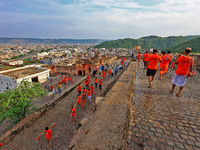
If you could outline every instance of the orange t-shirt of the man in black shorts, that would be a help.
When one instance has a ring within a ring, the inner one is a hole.
[[[158,54],[151,54],[147,61],[149,61],[148,69],[157,70],[158,62],[162,61],[161,57]]]

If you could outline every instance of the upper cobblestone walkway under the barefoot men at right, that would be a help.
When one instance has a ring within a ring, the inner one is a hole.
[[[146,70],[137,69],[128,136],[130,150],[200,149],[199,78],[189,79],[181,97],[169,93],[174,71],[163,80],[158,72],[153,88],[148,88]]]

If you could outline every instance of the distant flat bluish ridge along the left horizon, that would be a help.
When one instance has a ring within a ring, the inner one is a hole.
[[[0,43],[10,44],[99,44],[102,39],[38,39],[38,38],[0,38]]]

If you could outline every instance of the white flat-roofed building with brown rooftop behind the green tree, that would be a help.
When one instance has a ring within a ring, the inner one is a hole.
[[[0,71],[0,92],[14,89],[21,81],[43,83],[49,77],[49,72],[49,69],[35,65]]]

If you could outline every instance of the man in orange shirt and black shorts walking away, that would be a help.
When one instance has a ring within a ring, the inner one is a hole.
[[[153,50],[153,54],[151,54],[147,58],[147,76],[149,77],[149,88],[152,87],[152,82],[154,80],[154,76],[156,74],[156,71],[158,70],[158,62],[161,62],[161,57],[157,54],[157,49]]]

